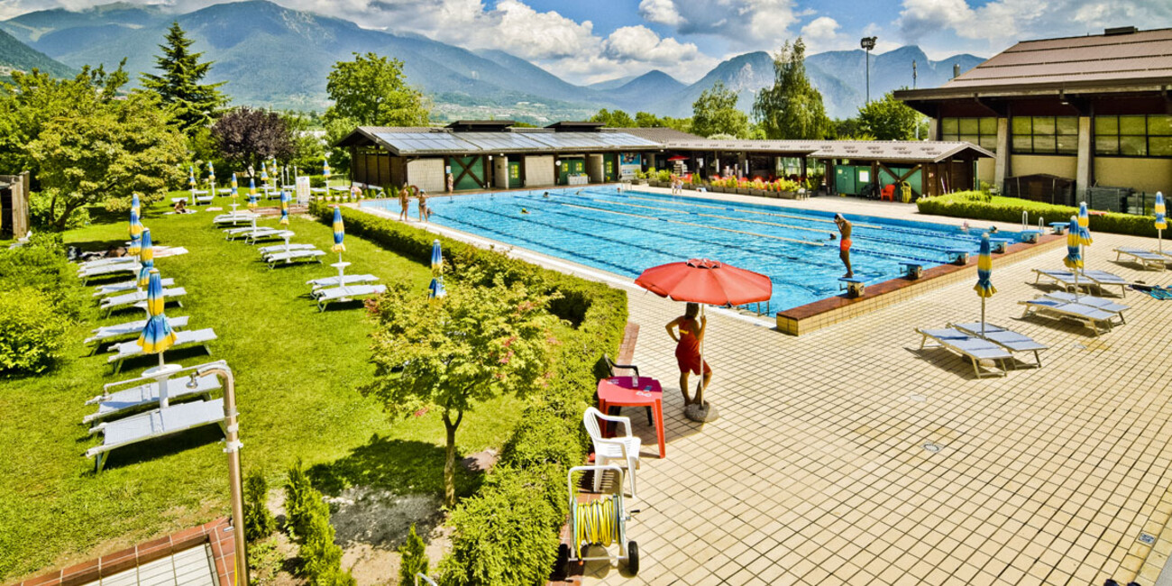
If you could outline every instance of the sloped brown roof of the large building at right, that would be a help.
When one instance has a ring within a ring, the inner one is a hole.
[[[933,89],[900,100],[1013,95],[1037,89],[1158,89],[1172,83],[1172,28],[1022,41]]]

